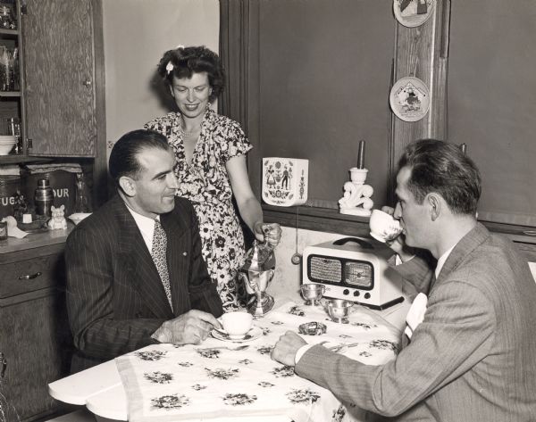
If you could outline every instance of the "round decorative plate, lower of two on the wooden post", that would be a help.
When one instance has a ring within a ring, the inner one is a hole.
[[[430,91],[421,79],[398,79],[391,88],[389,103],[398,119],[421,120],[430,109]]]

